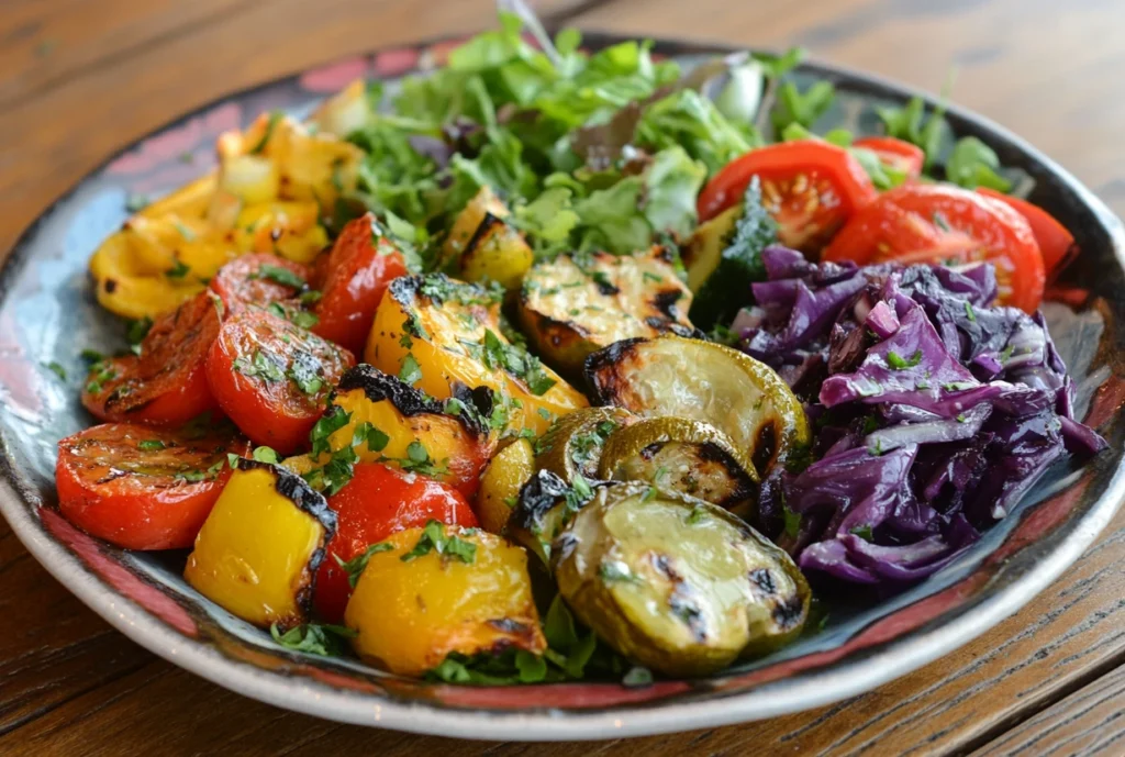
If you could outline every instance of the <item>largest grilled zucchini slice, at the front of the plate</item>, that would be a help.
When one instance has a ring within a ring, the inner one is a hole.
[[[800,633],[810,591],[785,552],[705,502],[610,484],[554,552],[559,593],[629,659],[701,676]]]

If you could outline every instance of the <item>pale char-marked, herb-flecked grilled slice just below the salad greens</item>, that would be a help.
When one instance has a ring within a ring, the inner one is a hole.
[[[559,255],[520,291],[520,322],[547,362],[577,375],[591,352],[633,336],[691,335],[692,295],[662,246],[631,255]]]

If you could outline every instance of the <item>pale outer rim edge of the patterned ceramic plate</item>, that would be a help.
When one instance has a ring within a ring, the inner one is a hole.
[[[627,35],[592,30],[587,38],[595,45],[629,39]],[[418,49],[458,37],[399,45],[390,49]],[[724,53],[746,49],[730,44],[693,39],[656,38],[656,49],[676,48],[684,53]],[[384,48],[387,49],[387,48]],[[370,56],[379,49],[363,54]],[[349,56],[354,57],[354,56]],[[331,63],[328,64],[331,65]],[[315,70],[321,66],[314,66]],[[930,106],[935,98],[926,92],[890,79],[824,62],[806,63],[802,71],[848,81],[854,89],[879,93],[897,100],[921,96]],[[192,108],[137,137],[88,171],[82,179],[48,205],[19,235],[0,270],[0,300],[18,271],[27,262],[32,241],[38,227],[89,179],[102,172],[116,157],[125,154],[151,136],[226,101],[237,100],[259,90],[291,81],[303,72],[292,72],[216,98]],[[1007,128],[968,109],[948,105],[947,117],[989,133],[993,143],[1023,153],[1043,166],[1052,177],[1084,205],[1102,225],[1113,244],[1113,253],[1125,269],[1125,227],[1089,189],[1065,169],[1016,136]],[[7,440],[0,435],[0,513],[12,532],[38,562],[72,594],[126,637],[160,657],[199,675],[212,683],[259,701],[313,714],[327,720],[360,726],[375,726],[400,731],[469,739],[507,739],[523,741],[588,740],[667,733],[762,720],[809,710],[871,691],[889,681],[937,659],[961,647],[1005,618],[1011,615],[1046,588],[1094,542],[1125,499],[1125,465],[1118,466],[1105,490],[1082,515],[1072,531],[1062,538],[1053,551],[1025,574],[993,594],[983,596],[960,616],[935,627],[922,627],[868,648],[871,654],[855,661],[835,661],[827,667],[810,668],[741,693],[727,693],[719,699],[677,702],[660,700],[641,705],[615,705],[590,711],[507,711],[495,709],[456,709],[420,699],[399,702],[380,694],[366,694],[328,685],[269,673],[261,668],[224,657],[202,641],[187,639],[147,610],[105,586],[89,574],[81,560],[36,524],[30,507],[39,506],[37,494],[20,486],[12,467]]]

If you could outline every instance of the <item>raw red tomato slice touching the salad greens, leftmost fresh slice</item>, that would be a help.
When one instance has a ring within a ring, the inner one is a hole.
[[[727,164],[700,193],[700,222],[741,201],[753,177],[777,220],[782,244],[818,253],[844,222],[875,199],[871,179],[843,147],[816,139],[753,150]]]

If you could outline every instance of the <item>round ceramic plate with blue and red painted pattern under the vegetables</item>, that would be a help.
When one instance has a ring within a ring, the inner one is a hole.
[[[587,39],[592,48],[618,42]],[[168,191],[214,164],[215,137],[259,112],[297,115],[358,76],[388,81],[441,62],[456,40],[387,49],[282,79],[201,108],[141,139],[55,202],[19,240],[0,274],[0,511],[27,549],[129,638],[222,686],[350,723],[469,738],[593,739],[770,718],[824,705],[918,668],[991,628],[1042,591],[1094,541],[1125,495],[1125,235],[1073,177],[1018,137],[951,108],[957,136],[976,135],[1035,181],[1032,199],[1082,247],[1064,280],[1070,306],[1045,307],[1079,387],[1079,416],[1112,450],[1054,468],[1011,515],[961,559],[882,603],[835,603],[822,633],[722,675],[692,682],[476,688],[411,681],[350,660],[288,651],[204,600],[180,577],[183,553],[133,553],[74,530],[55,508],[58,439],[92,420],[78,402],[83,348],[111,352],[120,322],[93,300],[87,260],[125,220],[126,197]],[[685,64],[714,52],[659,43]],[[826,120],[875,129],[872,106],[911,92],[863,74],[806,65],[839,97]],[[187,162],[182,155],[190,153]],[[62,364],[69,381],[45,366]]]

